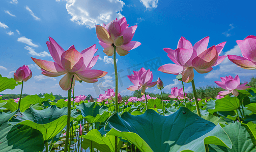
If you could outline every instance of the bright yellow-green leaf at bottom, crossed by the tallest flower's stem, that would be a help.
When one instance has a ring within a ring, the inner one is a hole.
[[[97,129],[89,131],[86,135],[81,136],[82,148],[87,149],[93,142],[93,147],[102,152],[115,152],[115,136],[101,136],[101,133]],[[118,151],[121,148],[123,142],[118,138]]]

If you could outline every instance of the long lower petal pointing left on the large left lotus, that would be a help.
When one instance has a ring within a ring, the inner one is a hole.
[[[32,57],[31,57],[32,58]],[[35,59],[32,58],[32,60],[42,69],[48,71],[48,72],[54,72],[54,73],[58,73],[58,72],[63,72],[65,71],[65,69],[52,61],[46,61],[46,60],[40,60],[40,59]]]

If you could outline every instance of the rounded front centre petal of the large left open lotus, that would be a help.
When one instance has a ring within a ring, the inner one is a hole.
[[[65,51],[61,56],[62,66],[69,72],[78,71],[83,65],[83,57],[75,49]]]

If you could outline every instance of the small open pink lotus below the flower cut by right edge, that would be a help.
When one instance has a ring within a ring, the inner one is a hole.
[[[250,88],[250,86],[245,86],[247,84],[244,83],[242,85],[240,85],[240,78],[238,75],[236,75],[235,78],[231,77],[231,75],[229,75],[229,77],[221,77],[221,82],[220,81],[215,81],[215,83],[225,89],[225,91],[220,91],[218,94],[219,95],[227,95],[232,93],[234,96],[238,96],[238,91],[237,90],[245,90]],[[237,90],[236,90],[237,89]]]

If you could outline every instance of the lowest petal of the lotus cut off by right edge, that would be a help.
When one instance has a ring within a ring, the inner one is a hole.
[[[256,63],[237,55],[227,55],[227,58],[236,65],[245,69],[256,69]]]

